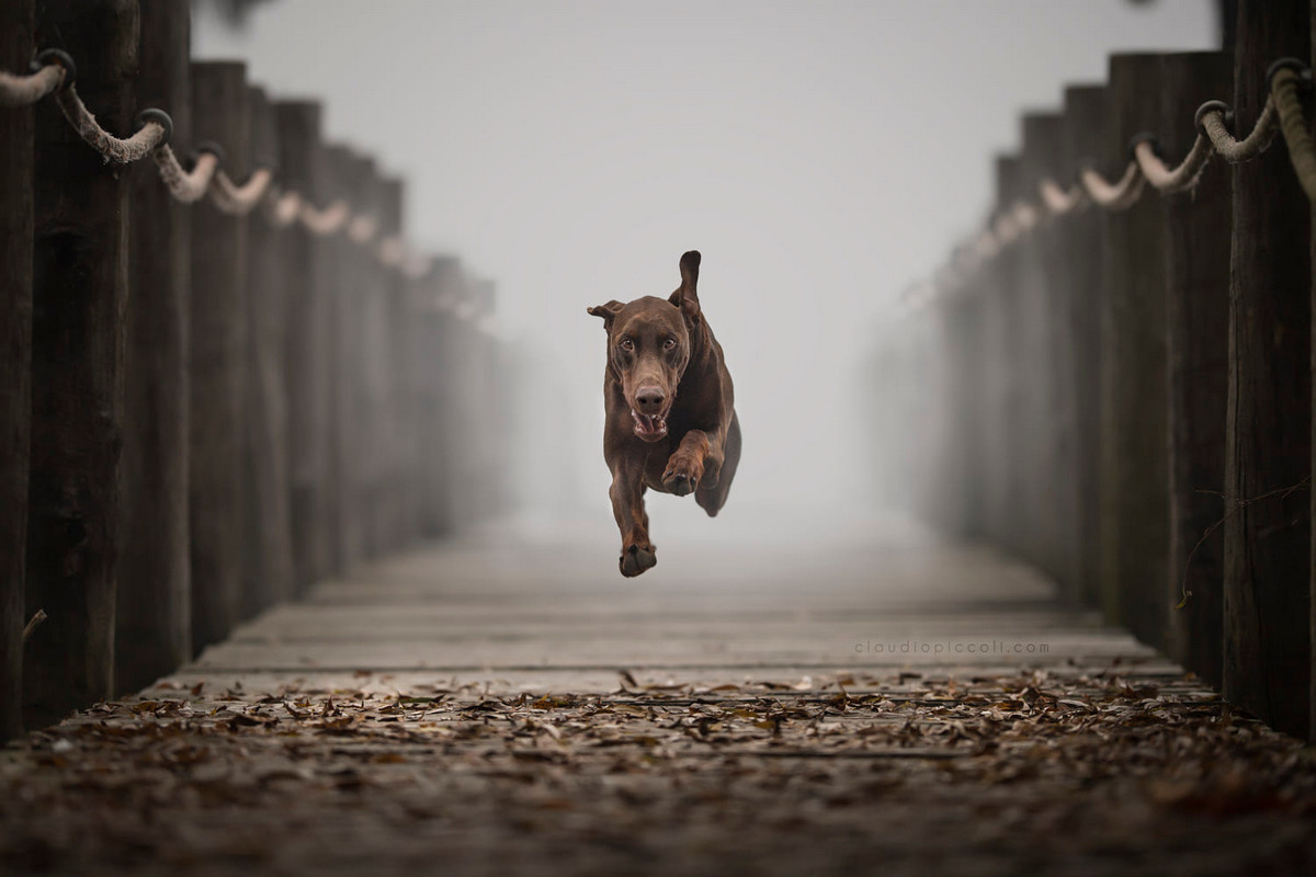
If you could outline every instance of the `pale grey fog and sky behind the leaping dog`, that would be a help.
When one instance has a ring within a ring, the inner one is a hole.
[[[197,58],[322,100],[329,138],[407,180],[409,238],[497,283],[533,381],[492,401],[520,423],[513,497],[600,533],[588,305],[666,296],[700,250],[745,430],[719,527],[861,502],[873,329],[976,227],[1020,113],[1101,82],[1112,51],[1219,43],[1209,0],[276,0],[237,30],[203,4],[193,29]],[[659,543],[703,517],[649,497]]]

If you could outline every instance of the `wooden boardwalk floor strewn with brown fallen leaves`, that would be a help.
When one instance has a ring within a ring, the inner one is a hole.
[[[891,522],[719,519],[665,523],[658,568],[626,581],[599,525],[325,582],[11,746],[0,869],[1316,864],[1311,753],[1024,568]]]

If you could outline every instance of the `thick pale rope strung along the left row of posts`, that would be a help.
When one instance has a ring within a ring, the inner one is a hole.
[[[174,124],[161,109],[146,109],[138,116],[138,129],[120,138],[107,131],[83,103],[74,85],[76,67],[72,58],[58,49],[46,49],[32,62],[32,71],[16,75],[0,71],[0,108],[29,107],[53,97],[78,135],[107,162],[130,164],[146,156],[155,162],[161,181],[174,200],[196,204],[209,196],[220,212],[246,216],[258,206],[270,225],[290,227],[293,224],[315,237],[343,234],[350,242],[370,247],[384,267],[399,271],[409,280],[429,273],[432,260],[416,252],[400,237],[378,241],[379,218],[354,213],[351,205],[336,200],[317,208],[299,192],[280,191],[274,170],[257,168],[241,185],[224,171],[224,150],[213,143],[200,145],[191,168],[184,168],[170,139]],[[457,310],[454,305],[443,308]]]

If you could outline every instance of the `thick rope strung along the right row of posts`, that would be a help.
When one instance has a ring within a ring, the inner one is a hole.
[[[1023,241],[1045,220],[1082,212],[1096,205],[1109,212],[1128,210],[1150,187],[1162,195],[1190,192],[1202,180],[1212,158],[1228,164],[1250,162],[1263,154],[1277,134],[1283,134],[1290,163],[1307,197],[1316,202],[1316,143],[1308,133],[1302,93],[1311,91],[1311,68],[1294,58],[1283,58],[1267,71],[1266,104],[1252,131],[1237,139],[1229,130],[1233,113],[1219,100],[1198,108],[1194,126],[1198,135],[1178,166],[1169,166],[1152,134],[1138,134],[1129,145],[1129,162],[1116,180],[1092,167],[1078,172],[1070,188],[1051,179],[1037,184],[1036,205],[1026,199],[999,210],[987,226],[967,243],[955,247],[951,264],[936,272],[930,283],[916,283],[900,296],[905,310],[916,310],[950,295],[983,263]]]

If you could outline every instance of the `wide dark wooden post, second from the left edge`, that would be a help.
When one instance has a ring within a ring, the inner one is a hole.
[[[47,0],[37,42],[78,59],[103,126],[133,129],[136,0]],[[25,724],[109,697],[128,304],[128,175],[37,107]]]

